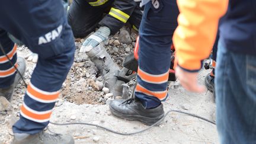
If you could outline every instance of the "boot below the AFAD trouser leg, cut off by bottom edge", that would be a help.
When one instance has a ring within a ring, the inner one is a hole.
[[[70,135],[60,135],[39,132],[34,135],[27,133],[14,133],[12,144],[73,144],[73,137]]]

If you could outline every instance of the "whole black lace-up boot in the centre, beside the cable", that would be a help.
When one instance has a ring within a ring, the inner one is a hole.
[[[128,100],[113,100],[110,102],[110,111],[115,116],[126,120],[139,120],[147,125],[152,125],[164,117],[163,105],[146,109],[135,98]]]

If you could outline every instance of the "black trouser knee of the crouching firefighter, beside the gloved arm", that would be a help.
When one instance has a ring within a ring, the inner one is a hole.
[[[95,30],[105,7],[92,7],[85,0],[73,0],[68,10],[68,23],[75,37],[86,37]]]

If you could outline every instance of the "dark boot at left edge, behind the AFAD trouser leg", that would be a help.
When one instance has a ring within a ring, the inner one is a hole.
[[[21,75],[24,75],[25,68],[26,68],[25,60],[22,57],[17,57],[17,64],[18,64],[18,68],[17,68],[18,71],[20,71]],[[8,101],[10,101],[12,98],[12,94],[14,92],[14,88],[18,84],[20,79],[21,79],[21,76],[18,74],[18,72],[16,72],[14,83],[8,88],[0,88],[0,96],[4,96],[5,98],[7,98]]]

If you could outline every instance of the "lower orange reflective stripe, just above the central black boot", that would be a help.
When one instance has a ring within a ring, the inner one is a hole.
[[[165,90],[165,91],[149,91],[148,89],[143,88],[139,84],[137,84],[137,86],[136,86],[136,91],[142,92],[143,94],[146,94],[146,95],[151,95],[151,96],[157,97],[157,98],[159,98],[159,100],[164,100],[165,97],[167,96],[167,90]]]

